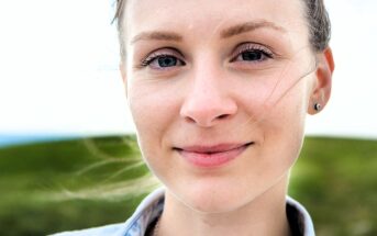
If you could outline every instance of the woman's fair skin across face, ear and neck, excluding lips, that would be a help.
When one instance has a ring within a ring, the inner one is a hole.
[[[127,1],[121,72],[143,157],[166,187],[159,235],[290,234],[289,170],[334,69],[330,48],[310,49],[302,9],[300,0]],[[250,47],[273,56],[244,60]],[[142,65],[156,55],[175,66]],[[176,149],[246,143],[213,168]]]

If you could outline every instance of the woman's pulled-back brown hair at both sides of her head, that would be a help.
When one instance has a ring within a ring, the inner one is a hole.
[[[117,11],[113,22],[117,21],[122,61],[125,59],[124,45],[124,5],[126,0],[117,0]],[[309,42],[315,53],[323,52],[331,37],[331,23],[323,0],[302,0],[306,5],[306,16],[309,25]]]

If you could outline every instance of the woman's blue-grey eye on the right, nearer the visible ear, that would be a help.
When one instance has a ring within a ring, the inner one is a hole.
[[[245,63],[260,63],[274,57],[270,49],[259,44],[242,44],[235,49],[232,55],[231,63],[245,61]]]

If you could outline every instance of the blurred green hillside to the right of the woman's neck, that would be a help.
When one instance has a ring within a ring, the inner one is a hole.
[[[307,138],[290,184],[319,236],[377,235],[377,142]]]

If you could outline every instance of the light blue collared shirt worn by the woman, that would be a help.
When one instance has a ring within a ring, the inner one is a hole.
[[[149,224],[160,216],[165,190],[159,188],[148,194],[133,215],[124,223],[81,231],[64,232],[54,236],[144,236]],[[307,210],[290,196],[286,198],[287,217],[293,236],[315,236],[312,220]]]

